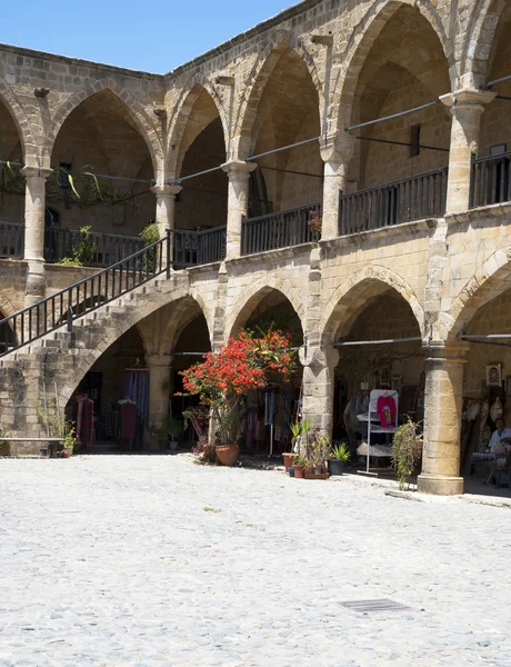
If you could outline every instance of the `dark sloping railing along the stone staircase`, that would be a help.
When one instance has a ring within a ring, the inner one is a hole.
[[[167,237],[84,280],[29,306],[0,321],[0,357],[37,340],[84,313],[113,301],[171,268],[170,231]]]

